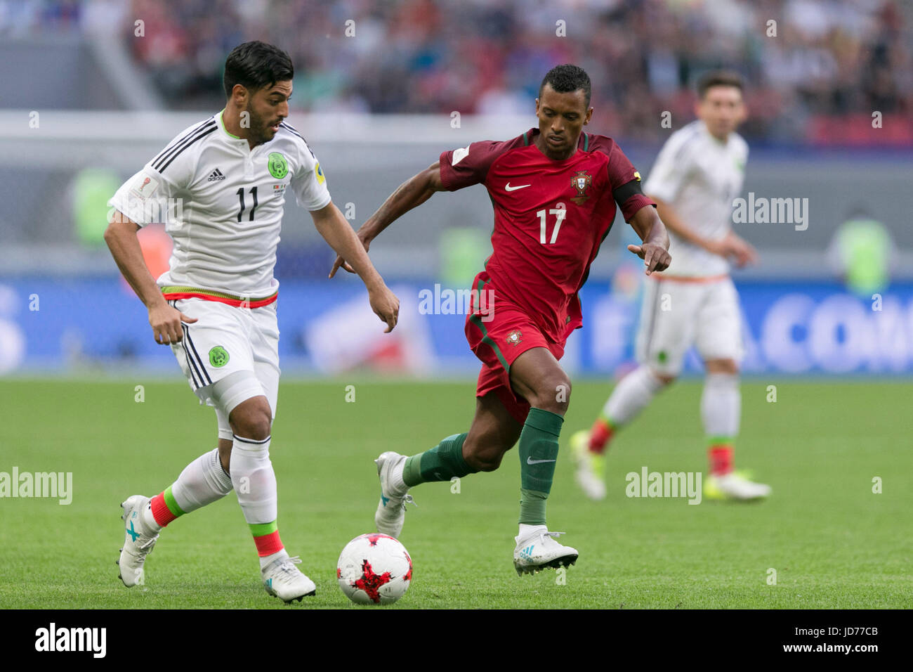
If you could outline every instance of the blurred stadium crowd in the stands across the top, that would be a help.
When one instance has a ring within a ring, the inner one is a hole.
[[[289,50],[305,110],[527,112],[542,74],[573,62],[603,132],[656,140],[662,112],[690,117],[700,72],[729,66],[750,84],[750,138],[871,139],[878,111],[886,138],[913,142],[913,8],[898,0],[0,1],[0,35],[111,16],[175,108],[219,104],[226,53],[257,38]]]

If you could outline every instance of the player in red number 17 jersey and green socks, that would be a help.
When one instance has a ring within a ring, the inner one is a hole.
[[[616,204],[641,245],[647,274],[668,267],[669,240],[640,176],[611,138],[583,133],[590,122],[590,78],[561,65],[545,76],[536,100],[539,128],[506,142],[483,141],[444,152],[407,180],[359,229],[371,241],[436,191],[476,184],[495,209],[493,252],[473,283],[467,315],[469,347],[482,361],[476,416],[468,432],[406,457],[376,460],[381,501],[374,522],[398,537],[410,487],[494,471],[519,440],[520,514],[514,549],[519,574],[566,567],[577,550],[561,545],[545,522],[545,504],[558,458],[558,436],[571,399],[571,381],[558,360],[582,325],[578,291],[612,226]],[[337,258],[331,276],[349,265]]]

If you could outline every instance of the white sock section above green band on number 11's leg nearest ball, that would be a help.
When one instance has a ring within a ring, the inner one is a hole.
[[[247,525],[276,520],[276,473],[269,461],[269,440],[235,436],[231,447],[231,482]]]

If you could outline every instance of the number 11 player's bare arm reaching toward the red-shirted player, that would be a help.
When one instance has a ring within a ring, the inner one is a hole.
[[[387,323],[383,333],[389,334],[399,319],[399,299],[383,283],[383,278],[368,258],[368,251],[362,246],[362,241],[332,201],[319,210],[311,210],[310,216],[314,219],[314,227],[323,236],[323,240],[326,240],[338,255],[352,260],[352,269],[362,278],[368,290],[368,301],[371,302],[374,315]]]

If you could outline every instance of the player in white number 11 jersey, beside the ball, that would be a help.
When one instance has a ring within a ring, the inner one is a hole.
[[[286,603],[315,592],[279,539],[269,460],[279,378],[273,268],[286,190],[310,210],[331,248],[355,260],[387,332],[399,301],[333,205],[310,147],[283,122],[293,75],[289,55],[276,47],[236,47],[226,59],[225,110],[179,133],[109,202],[111,254],[149,309],[155,341],[172,348],[218,422],[218,448],[188,464],[159,495],[121,504],[126,535],[118,565],[128,587],[143,582],[143,562],[162,528],[235,489],[267,592]],[[174,242],[170,269],[157,281],[136,237],[155,221],[166,222]]]

